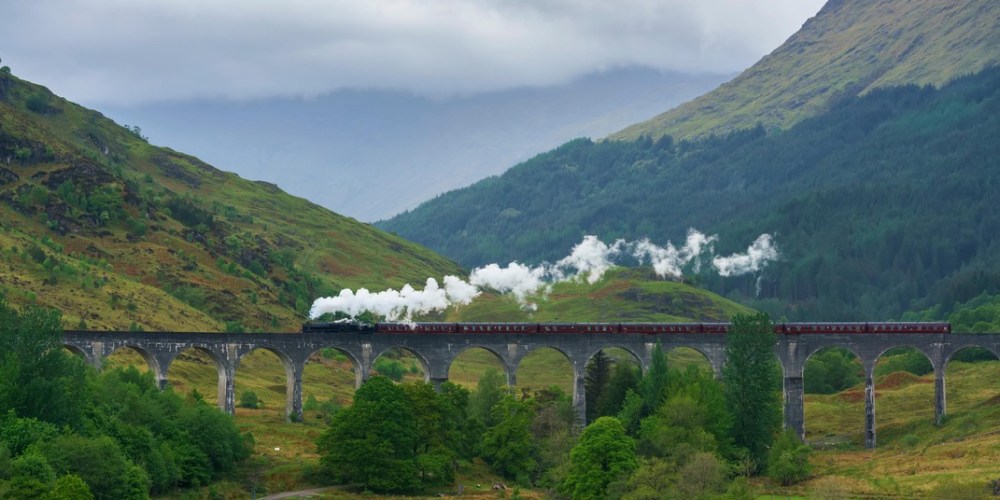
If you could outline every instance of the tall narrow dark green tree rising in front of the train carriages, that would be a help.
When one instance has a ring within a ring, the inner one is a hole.
[[[735,316],[726,334],[722,377],[734,417],[733,440],[761,465],[767,463],[767,450],[781,424],[775,342],[771,319],[765,313]]]

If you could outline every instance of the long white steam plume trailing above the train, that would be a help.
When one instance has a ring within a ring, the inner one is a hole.
[[[614,265],[615,259],[623,255],[634,257],[640,264],[648,262],[657,276],[672,279],[683,277],[688,268],[700,272],[705,260],[711,262],[720,276],[729,277],[759,272],[780,257],[769,234],[760,235],[746,253],[729,256],[714,255],[716,241],[717,235],[705,235],[695,229],[688,231],[680,247],[671,242],[658,246],[648,238],[636,242],[616,240],[608,245],[588,235],[555,264],[543,263],[534,267],[518,262],[511,262],[506,267],[488,264],[473,269],[468,281],[445,276],[444,287],[434,278],[427,278],[423,290],[416,290],[409,284],[399,291],[389,289],[374,293],[365,288],[357,292],[344,289],[336,297],[316,299],[309,317],[315,319],[325,313],[338,312],[356,317],[371,311],[389,321],[410,321],[413,315],[440,311],[452,305],[467,305],[484,290],[513,295],[525,309],[536,310],[537,305],[529,301],[530,297],[547,294],[553,283],[562,281],[597,283]]]

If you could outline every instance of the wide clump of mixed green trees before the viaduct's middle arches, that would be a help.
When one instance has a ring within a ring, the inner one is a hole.
[[[457,464],[481,459],[513,498],[518,487],[558,498],[753,498],[749,477],[791,484],[810,473],[809,448],[779,432],[770,324],[766,314],[734,318],[725,383],[696,366],[671,369],[659,347],[643,374],[595,357],[587,422],[574,420],[559,388],[517,393],[492,370],[473,391],[373,377],[327,417],[320,475],[366,491],[426,493],[453,485]]]

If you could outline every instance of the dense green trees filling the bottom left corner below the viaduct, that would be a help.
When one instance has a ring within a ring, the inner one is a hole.
[[[0,497],[141,499],[233,473],[253,437],[197,393],[62,348],[60,314],[0,298]]]

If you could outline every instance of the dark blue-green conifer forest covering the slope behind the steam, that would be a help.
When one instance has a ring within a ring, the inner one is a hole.
[[[1000,69],[940,89],[844,98],[789,130],[697,141],[578,139],[379,227],[463,265],[536,263],[582,235],[743,251],[767,232],[759,275],[687,279],[792,320],[900,318],[996,294]]]

